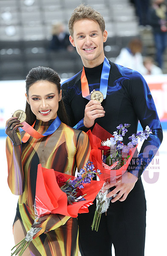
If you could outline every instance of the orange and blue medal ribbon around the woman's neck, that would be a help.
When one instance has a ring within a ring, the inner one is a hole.
[[[28,123],[26,123],[25,121],[22,122],[21,124],[24,125],[22,127],[22,129],[24,131],[26,131],[26,133],[24,134],[23,138],[22,138],[22,142],[26,143],[29,140],[29,137],[32,136],[35,139],[40,139],[42,137],[45,137],[47,135],[50,135],[52,133],[54,133],[58,127],[60,126],[60,118],[57,116],[56,119],[52,122],[52,124],[49,126],[49,128],[47,129],[47,131],[44,134],[40,134],[38,131],[36,131],[33,127],[35,125],[35,122],[33,123],[33,125],[29,125]]]

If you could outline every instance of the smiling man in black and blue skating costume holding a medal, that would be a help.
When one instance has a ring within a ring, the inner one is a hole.
[[[124,137],[136,133],[138,119],[145,129],[147,125],[153,134],[144,141],[138,155],[138,163],[115,183],[107,215],[101,216],[98,232],[91,230],[95,204],[89,213],[78,216],[79,245],[82,256],[111,256],[112,244],[115,256],[143,256],[145,242],[146,201],[141,174],[147,166],[143,159],[144,148],[149,146],[149,157],[155,155],[162,141],[162,130],[150,90],[143,77],[136,71],[108,61],[104,56],[103,43],[107,31],[103,17],[90,6],[80,5],[69,20],[69,40],[76,47],[83,62],[83,70],[63,82],[63,101],[71,125],[87,131],[95,122],[113,133],[119,124],[131,126]],[[84,74],[85,73],[85,74]],[[81,86],[82,84],[82,86]],[[104,100],[90,100],[93,90],[103,92]]]

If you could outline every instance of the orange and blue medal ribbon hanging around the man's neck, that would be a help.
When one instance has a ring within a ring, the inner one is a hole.
[[[100,92],[103,93],[104,99],[107,96],[107,87],[108,87],[108,79],[109,79],[109,71],[110,71],[110,64],[107,58],[104,58],[103,68],[101,72],[101,80],[100,80]],[[81,90],[83,98],[90,100],[90,91],[89,91],[89,84],[86,79],[85,69],[83,67],[82,74],[81,74]]]

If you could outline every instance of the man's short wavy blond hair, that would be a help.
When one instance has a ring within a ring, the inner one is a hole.
[[[83,4],[80,4],[75,10],[73,11],[71,18],[69,19],[69,32],[70,35],[73,37],[73,26],[74,22],[77,20],[82,20],[82,19],[89,19],[89,20],[94,20],[98,22],[101,32],[103,33],[105,30],[105,21],[103,16],[93,9],[91,6],[85,6]]]

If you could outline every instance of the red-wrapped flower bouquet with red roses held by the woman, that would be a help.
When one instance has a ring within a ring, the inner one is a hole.
[[[33,225],[40,224],[38,218],[49,214],[76,218],[78,213],[89,212],[88,207],[104,184],[104,181],[91,180],[97,174],[101,174],[100,170],[94,170],[90,161],[78,172],[77,177],[43,168],[39,164],[34,205],[36,218]],[[31,227],[26,237],[12,248],[17,247],[11,255],[21,256],[32,239],[39,236],[37,233],[40,230],[41,227]]]

